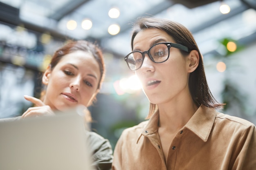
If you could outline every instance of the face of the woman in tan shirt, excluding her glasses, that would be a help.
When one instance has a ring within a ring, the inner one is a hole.
[[[173,38],[159,29],[145,29],[134,38],[133,51],[147,51],[153,44],[173,42]],[[171,101],[182,101],[189,93],[188,60],[179,49],[170,48],[169,58],[163,63],[154,63],[148,55],[136,71],[144,93],[153,104],[164,104]]]

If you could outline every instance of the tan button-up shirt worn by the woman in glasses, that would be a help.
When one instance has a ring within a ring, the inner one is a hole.
[[[200,106],[180,129],[166,161],[157,132],[159,113],[123,131],[112,170],[256,170],[254,124]]]

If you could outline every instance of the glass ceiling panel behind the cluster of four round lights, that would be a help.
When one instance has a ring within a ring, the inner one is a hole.
[[[152,7],[162,2],[168,2],[166,0],[91,0],[83,4],[76,9],[74,13],[65,16],[58,24],[58,29],[63,33],[68,33],[76,38],[86,38],[91,36],[93,38],[101,38],[109,36],[108,27],[111,24],[119,24],[121,26],[128,25],[128,21],[134,20],[141,13],[145,13]],[[119,18],[110,18],[108,11],[115,7],[119,9]],[[81,28],[81,22],[84,19],[90,19],[92,21],[92,29],[83,30]],[[78,27],[75,31],[68,31],[66,29],[66,23],[68,20],[75,20]],[[123,29],[123,27],[121,27]]]

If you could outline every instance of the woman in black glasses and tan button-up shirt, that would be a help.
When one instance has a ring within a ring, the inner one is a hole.
[[[123,131],[113,170],[252,170],[254,124],[216,111],[202,55],[176,22],[140,18],[125,57],[150,101],[147,119]]]

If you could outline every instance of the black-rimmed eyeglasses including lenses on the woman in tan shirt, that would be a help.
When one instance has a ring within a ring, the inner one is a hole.
[[[162,63],[168,60],[171,47],[189,52],[189,48],[184,45],[171,42],[161,42],[151,46],[148,51],[132,51],[131,53],[126,55],[126,57],[124,57],[124,61],[127,63],[128,67],[132,71],[141,68],[145,58],[145,54],[147,54],[150,60],[152,60],[153,62]]]

